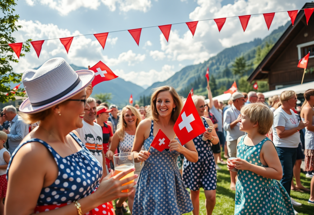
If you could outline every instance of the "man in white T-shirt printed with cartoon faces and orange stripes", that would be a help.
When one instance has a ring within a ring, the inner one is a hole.
[[[83,127],[76,129],[78,135],[81,138],[84,146],[94,155],[103,167],[103,177],[107,175],[105,154],[102,150],[102,128],[94,120],[96,119],[97,109],[96,100],[89,97],[86,99],[89,104],[89,109],[85,109],[85,115],[83,117]],[[101,146],[101,147],[100,147]]]

